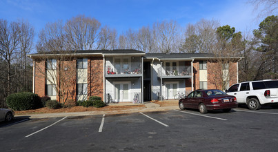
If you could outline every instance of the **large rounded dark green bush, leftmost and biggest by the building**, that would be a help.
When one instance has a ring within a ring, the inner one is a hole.
[[[14,111],[26,111],[41,107],[39,96],[34,93],[14,93],[7,97],[8,107]]]

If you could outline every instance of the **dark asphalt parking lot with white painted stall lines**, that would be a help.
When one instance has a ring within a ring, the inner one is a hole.
[[[1,151],[277,151],[278,109],[186,109],[0,123]]]

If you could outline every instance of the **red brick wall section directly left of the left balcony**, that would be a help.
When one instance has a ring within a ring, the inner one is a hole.
[[[88,96],[99,96],[103,100],[103,58],[88,58]]]

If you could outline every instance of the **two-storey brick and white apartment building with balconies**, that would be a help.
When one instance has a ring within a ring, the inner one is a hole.
[[[177,93],[217,88],[222,84],[215,83],[218,78],[213,73],[219,68],[228,75],[228,87],[237,83],[240,59],[211,68],[217,67],[217,61],[206,53],[78,50],[28,57],[33,59],[33,92],[39,96],[59,100],[63,94],[77,101],[97,95],[106,103],[173,99]]]

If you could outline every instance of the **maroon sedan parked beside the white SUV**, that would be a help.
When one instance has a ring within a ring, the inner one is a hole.
[[[231,108],[237,108],[237,98],[227,95],[217,89],[192,91],[185,99],[179,99],[179,108],[196,108],[200,113],[208,113],[210,110],[223,109],[229,112]]]

